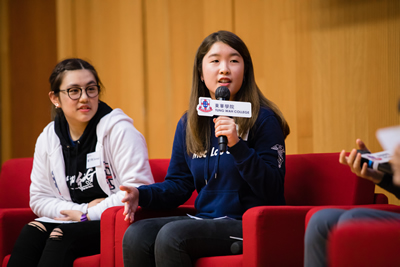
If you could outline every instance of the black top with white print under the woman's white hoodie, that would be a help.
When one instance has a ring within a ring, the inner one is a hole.
[[[72,141],[64,115],[57,115],[54,120],[55,132],[60,139],[64,156],[66,183],[75,203],[89,203],[94,199],[107,197],[98,184],[96,168],[86,168],[86,156],[95,152],[97,124],[111,111],[112,108],[100,101],[96,114],[77,141]]]

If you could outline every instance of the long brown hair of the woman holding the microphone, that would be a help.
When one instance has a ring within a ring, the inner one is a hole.
[[[253,62],[250,52],[245,43],[234,33],[228,31],[218,31],[207,36],[200,47],[197,49],[193,66],[192,90],[187,112],[186,126],[186,148],[188,154],[204,154],[210,145],[210,124],[208,117],[197,115],[197,104],[199,97],[210,97],[210,93],[205,84],[201,81],[203,73],[203,58],[216,42],[223,42],[242,56],[244,60],[244,76],[240,90],[235,95],[235,101],[250,102],[252,104],[252,118],[235,118],[239,125],[239,136],[243,136],[255,123],[260,107],[271,109],[279,120],[283,134],[290,133],[290,128],[278,106],[268,100],[258,88],[253,70]]]

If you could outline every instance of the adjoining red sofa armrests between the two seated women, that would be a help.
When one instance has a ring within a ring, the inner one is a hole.
[[[122,254],[122,240],[130,223],[124,220],[123,206],[112,207],[103,212],[101,217],[101,266],[124,266]],[[138,208],[135,221],[146,218],[184,216],[195,214],[192,205],[182,205],[173,210],[144,210]]]

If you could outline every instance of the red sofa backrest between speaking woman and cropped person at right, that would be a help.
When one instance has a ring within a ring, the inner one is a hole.
[[[353,205],[374,203],[375,185],[339,163],[339,153],[286,156],[287,205]]]

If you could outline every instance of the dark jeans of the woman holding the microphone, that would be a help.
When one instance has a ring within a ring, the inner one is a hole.
[[[230,236],[242,237],[242,221],[187,216],[137,221],[124,235],[124,266],[189,267],[200,257],[231,255],[237,240]]]

